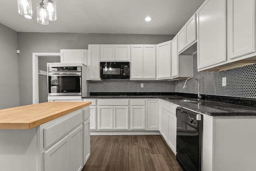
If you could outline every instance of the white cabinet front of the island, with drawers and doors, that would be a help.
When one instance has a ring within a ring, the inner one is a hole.
[[[43,171],[81,171],[90,156],[90,108],[84,107],[38,128]]]

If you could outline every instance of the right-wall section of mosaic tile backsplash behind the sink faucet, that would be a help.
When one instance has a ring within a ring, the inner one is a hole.
[[[201,94],[256,98],[256,64],[220,72],[198,72],[197,54],[194,54],[193,76],[200,80]],[[222,86],[223,77],[226,77],[226,86]],[[184,83],[185,80],[176,81],[176,92],[198,93],[196,80],[188,80],[185,89]]]

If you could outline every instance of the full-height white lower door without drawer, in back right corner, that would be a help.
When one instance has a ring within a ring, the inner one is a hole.
[[[158,129],[158,100],[148,100],[148,129]]]

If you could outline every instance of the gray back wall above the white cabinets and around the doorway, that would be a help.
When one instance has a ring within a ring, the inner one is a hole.
[[[32,53],[88,49],[88,44],[158,44],[175,35],[18,32],[20,105],[32,104]]]

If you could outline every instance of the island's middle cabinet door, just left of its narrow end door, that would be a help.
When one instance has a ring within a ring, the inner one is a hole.
[[[80,171],[83,167],[83,125],[69,133],[69,170]]]

